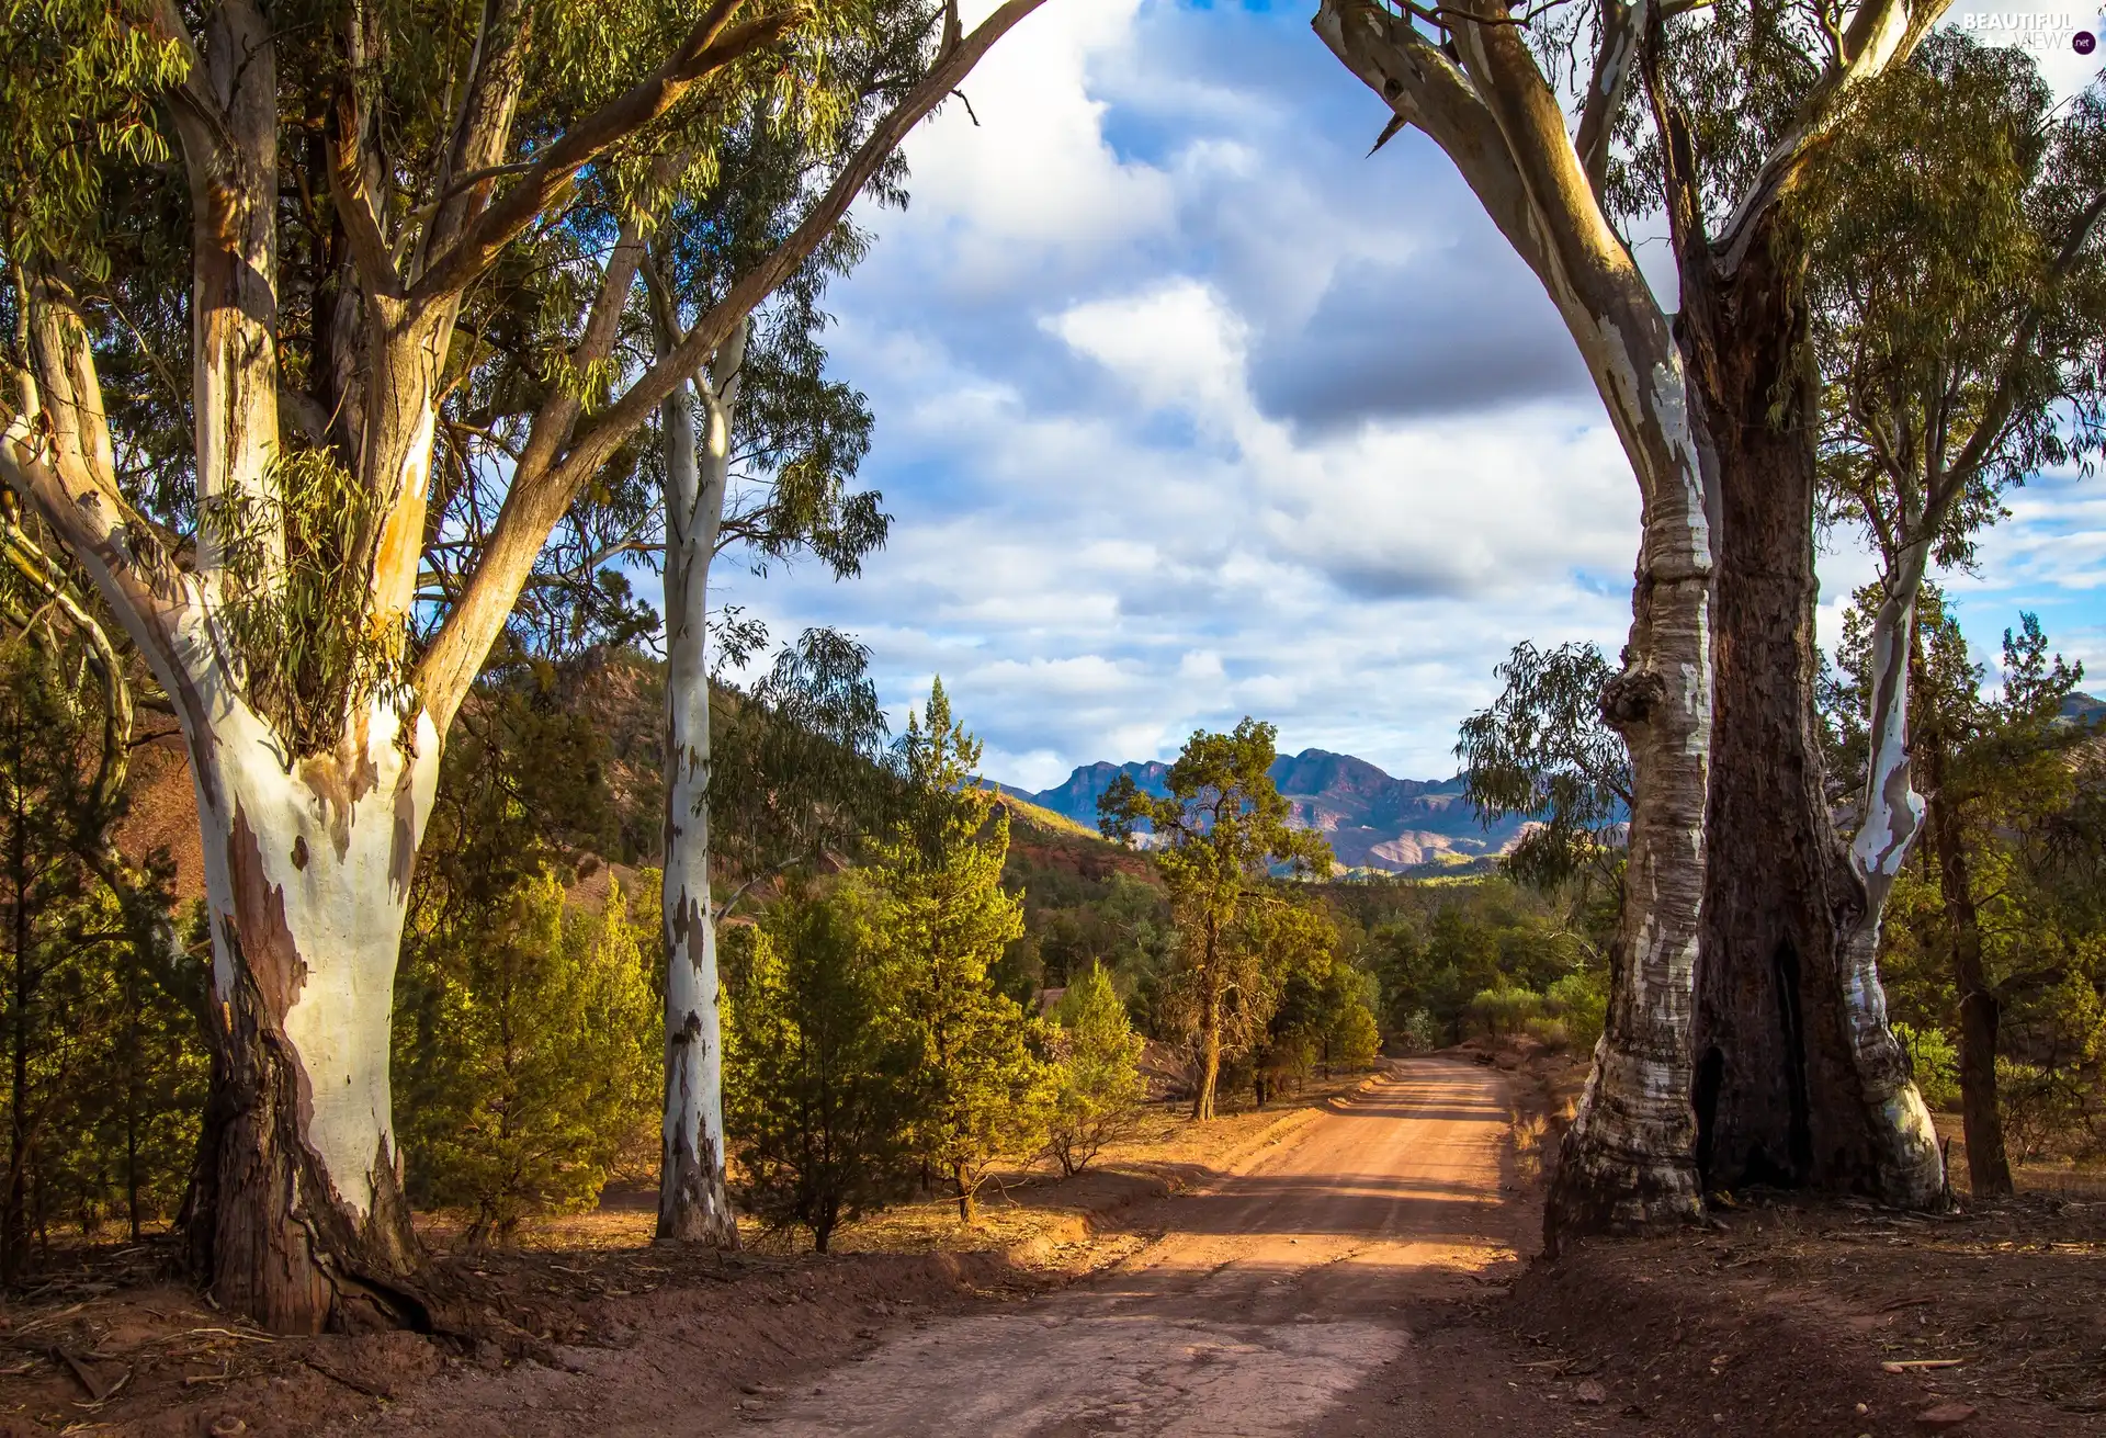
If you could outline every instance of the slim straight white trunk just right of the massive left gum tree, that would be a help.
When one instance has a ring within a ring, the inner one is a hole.
[[[665,1129],[661,1240],[737,1249],[724,1187],[724,1063],[716,916],[710,899],[710,558],[731,480],[746,324],[695,377],[701,442],[684,387],[665,423]]]

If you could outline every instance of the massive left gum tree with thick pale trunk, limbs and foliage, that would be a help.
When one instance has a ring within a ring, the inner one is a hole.
[[[432,1320],[388,1011],[444,735],[575,499],[1036,4],[969,36],[931,23],[918,80],[796,229],[628,371],[668,206],[718,177],[754,95],[790,128],[842,122],[834,55],[861,6],[8,13],[63,82],[8,65],[0,95],[21,177],[0,480],[93,577],[187,741],[217,1015],[192,1238],[223,1305],[291,1331]],[[160,392],[107,394],[105,360]],[[518,392],[484,408],[495,381]],[[503,501],[423,600],[468,474]]]

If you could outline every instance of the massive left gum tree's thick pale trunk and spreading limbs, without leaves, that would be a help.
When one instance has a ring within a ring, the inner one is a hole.
[[[160,103],[190,179],[190,411],[198,512],[208,522],[185,558],[126,499],[112,406],[95,377],[82,307],[59,272],[25,276],[32,362],[17,375],[19,394],[0,398],[0,482],[99,587],[154,670],[190,750],[213,939],[213,1097],[185,1227],[223,1305],[295,1333],[432,1320],[430,1289],[413,1272],[388,1051],[396,947],[444,733],[583,486],[836,234],[908,131],[1036,4],[1005,0],[935,55],[842,156],[798,227],[741,269],[680,345],[598,408],[590,427],[579,430],[583,387],[550,385],[512,455],[503,507],[415,663],[398,646],[419,602],[440,383],[453,383],[446,366],[463,362],[455,343],[461,297],[520,236],[571,211],[577,175],[600,154],[661,122],[710,76],[781,40],[798,11],[735,21],[746,13],[739,4],[710,4],[657,67],[560,135],[537,118],[522,147],[514,112],[529,72],[526,6],[484,6],[459,99],[425,116],[453,143],[436,173],[406,187],[436,196],[419,206],[394,202],[404,192],[383,162],[381,105],[366,93],[392,19],[369,8],[341,29],[303,27],[303,46],[341,46],[343,82],[326,116],[301,109],[289,120],[272,15],[255,0],[208,6],[196,36],[179,6],[154,8],[154,42],[175,46],[183,61]],[[335,541],[289,552],[293,505],[278,503],[314,499],[278,493],[293,482],[278,413],[280,124],[320,135],[326,175],[303,173],[301,183],[326,187],[331,244],[341,242],[347,257],[326,335],[307,335],[318,352],[310,377],[331,385],[337,404],[301,425],[314,451],[303,459],[341,470],[345,491],[358,495],[356,533],[341,554]],[[503,189],[491,166],[505,168]],[[670,185],[672,171],[659,179]],[[642,189],[621,204],[668,198]],[[573,375],[611,362],[640,234],[642,217],[623,221],[604,255],[598,293],[564,356]],[[225,543],[227,535],[242,543]],[[297,644],[244,653],[244,642],[276,642],[253,632],[244,640],[242,604],[276,602],[286,590],[276,581],[297,562],[362,585],[356,613],[280,617],[293,630],[333,625],[331,640],[354,630],[383,678],[324,674],[318,665],[329,661],[310,661]],[[297,670],[291,684],[310,705],[297,722],[259,686],[278,661]],[[706,882],[691,893],[708,903]]]

